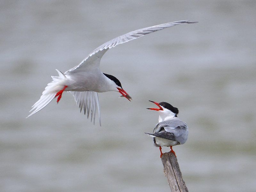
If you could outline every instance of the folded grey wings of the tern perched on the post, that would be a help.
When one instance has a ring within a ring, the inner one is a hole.
[[[188,126],[179,119],[160,122],[156,125],[154,133],[146,133],[155,137],[175,140],[184,144],[188,139]]]

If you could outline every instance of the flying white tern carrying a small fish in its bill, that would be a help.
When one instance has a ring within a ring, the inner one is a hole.
[[[79,65],[66,71],[60,72],[56,69],[59,76],[52,76],[52,82],[47,84],[40,99],[32,106],[31,112],[27,117],[35,114],[48,105],[53,98],[57,98],[57,103],[60,101],[62,93],[68,91],[75,97],[76,104],[80,108],[80,112],[84,108],[84,114],[87,109],[87,118],[91,113],[94,117],[98,110],[100,120],[100,101],[98,92],[116,91],[120,92],[126,99],[132,99],[127,92],[124,91],[120,81],[112,76],[100,71],[100,60],[108,49],[115,47],[141,36],[162,30],[164,28],[179,25],[181,23],[197,23],[196,21],[176,21],[164,23],[152,27],[138,29],[122,36],[118,36],[93,50]]]

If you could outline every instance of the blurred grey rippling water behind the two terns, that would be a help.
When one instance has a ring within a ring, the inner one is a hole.
[[[256,1],[1,1],[0,191],[169,191],[144,132],[166,101],[189,126],[173,147],[189,191],[256,191]],[[132,102],[100,93],[101,123],[71,94],[25,119],[56,69],[138,28],[196,20],[121,44],[101,62]],[[164,148],[168,151],[169,148]]]

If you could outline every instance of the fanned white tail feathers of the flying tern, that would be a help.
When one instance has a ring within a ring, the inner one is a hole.
[[[55,98],[57,92],[65,87],[65,80],[67,79],[66,76],[59,70],[56,69],[56,71],[59,73],[59,76],[52,76],[52,82],[47,84],[40,99],[32,106],[32,109],[29,111],[32,111],[32,113],[30,113],[26,118],[43,109],[52,101],[53,98]]]

